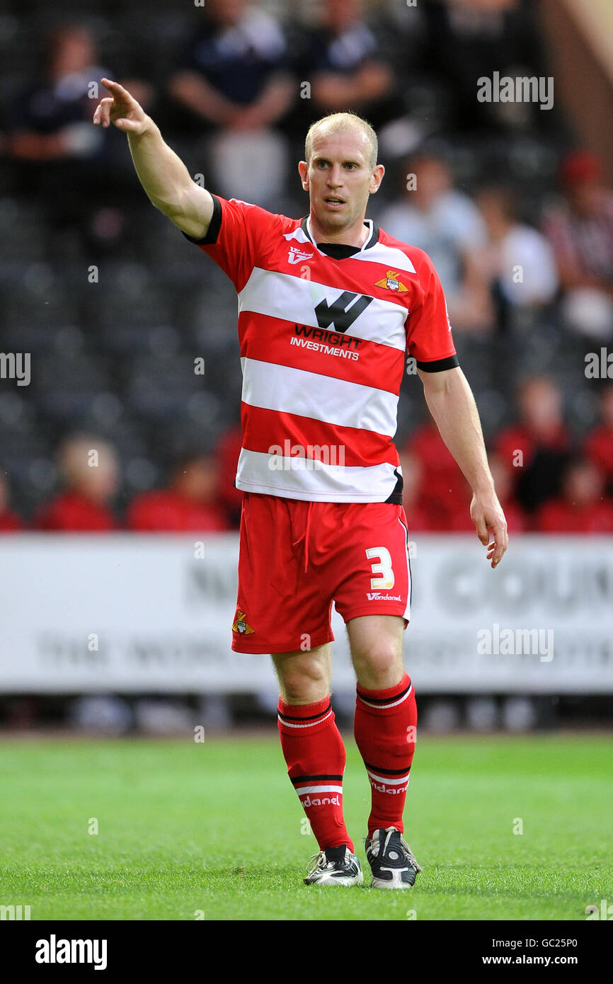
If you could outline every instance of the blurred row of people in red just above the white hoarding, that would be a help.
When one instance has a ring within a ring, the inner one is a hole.
[[[547,377],[520,390],[518,421],[490,442],[498,496],[513,532],[613,533],[613,385],[601,391],[600,421],[581,442],[564,421],[562,393]],[[120,520],[113,509],[119,464],[111,444],[92,435],[67,439],[58,454],[62,488],[43,503],[30,528],[52,532],[220,532],[237,529],[242,492],[233,475],[240,428],[214,453],[184,452],[165,487],[142,492]],[[464,532],[471,491],[434,422],[416,428],[401,448],[403,506],[411,531]],[[0,531],[27,524],[7,505],[0,477]]]

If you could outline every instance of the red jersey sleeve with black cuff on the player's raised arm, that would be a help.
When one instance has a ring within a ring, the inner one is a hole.
[[[207,235],[186,239],[199,246],[230,278],[237,293],[251,276],[263,249],[265,233],[275,216],[258,205],[212,195],[213,216]]]

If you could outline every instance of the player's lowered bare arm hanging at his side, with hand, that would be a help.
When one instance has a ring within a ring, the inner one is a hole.
[[[481,543],[487,546],[487,559],[493,568],[497,567],[509,545],[507,521],[494,489],[472,391],[459,367],[443,372],[428,373],[420,369],[417,372],[441,437],[470,483],[470,518]],[[488,529],[492,530],[491,540]]]

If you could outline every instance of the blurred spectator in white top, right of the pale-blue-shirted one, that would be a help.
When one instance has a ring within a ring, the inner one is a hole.
[[[519,221],[516,197],[510,189],[484,188],[476,201],[487,228],[479,268],[489,281],[504,327],[510,309],[538,309],[554,299],[556,264],[542,233]]]

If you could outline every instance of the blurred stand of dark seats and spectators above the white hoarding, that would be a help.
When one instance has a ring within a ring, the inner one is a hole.
[[[549,74],[531,3],[93,2],[51,30],[45,17],[32,3],[31,31],[0,19],[0,348],[33,366],[28,392],[0,383],[0,529],[239,522],[235,299],[153,215],[125,137],[92,126],[109,76],[195,180],[288,215],[307,211],[309,124],[366,116],[388,169],[369,215],[434,261],[512,532],[613,532],[613,387],[584,372],[613,341],[613,191],[557,105],[476,99],[480,76]],[[194,355],[213,373],[195,379]],[[409,385],[409,526],[469,529],[468,486]]]

